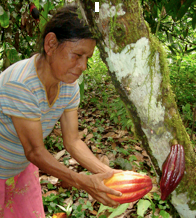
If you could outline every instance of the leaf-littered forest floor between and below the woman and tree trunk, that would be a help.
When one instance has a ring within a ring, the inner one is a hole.
[[[57,178],[40,171],[47,217],[63,212],[62,209],[72,218],[178,217],[172,206],[160,199],[159,178],[141,142],[131,131],[132,122],[110,78],[107,75],[102,75],[99,79],[91,75],[86,77],[88,84],[85,84],[84,98],[78,111],[80,138],[104,164],[115,169],[132,170],[150,176],[153,188],[142,201],[135,201],[114,209],[100,206],[99,202],[82,190],[63,189]],[[55,158],[68,168],[78,173],[90,173],[64,150],[59,123],[45,139],[45,145]]]

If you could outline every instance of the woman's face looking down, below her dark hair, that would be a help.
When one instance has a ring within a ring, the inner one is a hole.
[[[81,39],[60,44],[50,57],[52,76],[56,81],[73,83],[87,67],[88,58],[93,55],[96,41]]]

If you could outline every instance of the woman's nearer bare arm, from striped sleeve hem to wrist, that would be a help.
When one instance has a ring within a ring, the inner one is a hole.
[[[44,172],[78,188],[79,185],[75,179],[78,174],[59,163],[45,148],[41,122],[18,117],[12,117],[12,121],[23,145],[26,158]]]

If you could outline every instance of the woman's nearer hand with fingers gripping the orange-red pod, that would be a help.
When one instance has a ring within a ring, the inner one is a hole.
[[[118,206],[119,203],[108,197],[107,193],[116,196],[121,196],[122,193],[104,185],[104,179],[112,177],[113,174],[113,171],[108,171],[106,173],[98,173],[90,176],[82,175],[83,178],[82,181],[80,181],[80,188],[88,192],[94,199],[106,206]]]

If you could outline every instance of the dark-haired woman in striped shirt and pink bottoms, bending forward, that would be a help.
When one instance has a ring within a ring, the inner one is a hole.
[[[0,75],[0,217],[45,217],[38,168],[105,205],[118,205],[107,193],[121,193],[103,183],[115,170],[96,159],[78,135],[76,80],[96,41],[76,10],[60,9],[45,27],[41,53]],[[44,147],[43,138],[59,119],[66,150],[93,175],[66,168]]]

